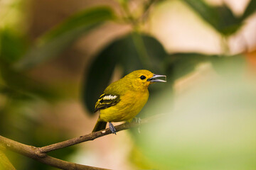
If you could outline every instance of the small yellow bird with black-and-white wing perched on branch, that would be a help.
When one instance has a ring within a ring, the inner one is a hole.
[[[111,132],[116,135],[117,131],[112,122],[131,122],[148,101],[149,85],[154,82],[166,82],[156,79],[159,77],[166,79],[165,75],[139,69],[107,86],[95,104],[94,112],[99,111],[100,114],[92,132],[104,130],[109,123]]]

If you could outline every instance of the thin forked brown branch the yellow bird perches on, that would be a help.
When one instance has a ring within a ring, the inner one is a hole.
[[[132,122],[132,123],[124,123],[122,125],[117,125],[114,128],[117,130],[117,132],[121,130],[127,130],[129,128],[135,128],[138,127],[139,125],[148,123],[152,120],[156,120],[157,118],[160,118],[162,115],[154,115],[151,116],[150,118],[146,118],[142,120],[140,123]],[[82,164],[75,164],[73,162],[65,162],[60,159],[56,159],[54,157],[48,156],[46,153],[56,150],[56,149],[61,149],[63,147],[69,147],[73,145],[77,145],[81,142],[86,142],[89,140],[95,140],[98,137],[102,137],[105,135],[111,134],[110,129],[106,130],[101,130],[98,132],[92,132],[90,134],[80,136],[80,137],[75,137],[71,140],[65,140],[63,142],[58,142],[53,145],[48,145],[46,147],[34,147],[31,145],[24,145],[20,142],[16,142],[14,140],[10,140],[6,137],[3,137],[0,135],[0,144],[4,145],[6,149],[10,149],[13,152],[17,152],[19,154],[23,154],[26,157],[30,157],[32,159],[38,160],[38,162],[42,162],[43,164],[48,164],[50,166],[57,167],[59,169],[67,169],[67,170],[84,170],[84,169],[92,169],[92,170],[105,170],[102,168],[97,168],[93,166],[86,166]]]

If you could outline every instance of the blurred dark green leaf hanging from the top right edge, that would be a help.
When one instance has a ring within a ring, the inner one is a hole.
[[[231,35],[235,33],[240,26],[242,20],[234,16],[228,6],[210,6],[203,0],[183,0],[196,11],[204,21],[209,23],[215,30],[223,35]]]

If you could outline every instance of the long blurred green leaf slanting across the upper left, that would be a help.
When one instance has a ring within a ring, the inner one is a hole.
[[[39,38],[36,46],[15,65],[16,69],[28,69],[59,55],[82,34],[112,19],[114,13],[108,7],[90,8],[76,13]]]

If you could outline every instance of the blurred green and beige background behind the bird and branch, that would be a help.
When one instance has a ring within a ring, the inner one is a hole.
[[[42,147],[90,133],[98,96],[166,74],[139,117],[49,154],[107,169],[255,169],[255,0],[1,0],[0,134]],[[13,152],[16,169],[55,169]]]

